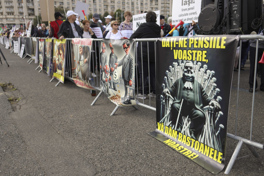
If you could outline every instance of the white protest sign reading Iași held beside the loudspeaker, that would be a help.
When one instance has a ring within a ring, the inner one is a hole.
[[[202,0],[173,0],[172,1],[172,25],[176,25],[180,20],[184,23],[198,22],[201,12]]]

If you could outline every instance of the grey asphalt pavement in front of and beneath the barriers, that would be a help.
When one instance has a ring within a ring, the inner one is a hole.
[[[104,95],[94,106],[90,90],[69,82],[59,84],[38,66],[3,47],[0,83],[0,175],[213,175],[203,167],[148,135],[156,128],[156,112],[139,107],[119,108]],[[249,139],[252,93],[248,92],[249,61],[241,71],[237,135]],[[235,132],[238,72],[233,74],[228,132]],[[260,78],[258,78],[260,85]],[[97,94],[99,92],[97,91]],[[21,98],[11,105],[8,98]],[[264,92],[257,88],[252,140],[264,144]],[[149,98],[145,99],[149,103]],[[152,106],[155,100],[151,99]],[[226,166],[237,141],[227,139]],[[263,175],[260,158],[243,145],[229,175]],[[226,168],[225,166],[225,168]],[[225,170],[224,168],[224,170]],[[225,175],[224,170],[218,175]]]

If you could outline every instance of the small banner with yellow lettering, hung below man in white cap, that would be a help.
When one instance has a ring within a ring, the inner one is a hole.
[[[53,77],[64,83],[66,39],[53,41]]]

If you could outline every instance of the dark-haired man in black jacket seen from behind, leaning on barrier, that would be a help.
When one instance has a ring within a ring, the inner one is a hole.
[[[161,28],[157,25],[157,16],[155,12],[149,11],[146,14],[146,23],[142,23],[138,29],[131,35],[130,38],[160,38]],[[148,53],[149,46],[149,53]],[[145,99],[145,94],[147,94],[147,76],[148,76],[148,54],[149,54],[149,69],[150,69],[150,86],[152,88],[152,93],[149,96],[155,97],[155,48],[154,42],[142,42],[142,60],[141,60],[141,42],[138,43],[137,47],[137,57],[138,57],[138,71],[140,75],[140,94],[137,95],[138,98]],[[142,65],[143,61],[143,65]],[[143,82],[142,82],[142,66],[143,66],[143,78],[144,78],[144,93],[143,93]]]

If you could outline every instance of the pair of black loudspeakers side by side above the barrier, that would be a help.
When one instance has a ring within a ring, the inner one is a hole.
[[[203,34],[250,34],[262,15],[263,0],[202,0],[198,23]]]

